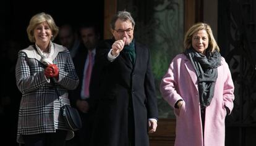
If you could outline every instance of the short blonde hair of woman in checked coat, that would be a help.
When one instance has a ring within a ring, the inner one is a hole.
[[[45,14],[44,12],[41,12],[39,14],[34,15],[30,19],[29,25],[27,27],[28,39],[30,40],[30,42],[35,43],[34,30],[35,30],[37,25],[39,25],[40,23],[43,23],[43,22],[48,23],[49,28],[51,29],[51,31],[53,33],[52,41],[58,35],[59,28],[55,24],[55,22],[53,20],[53,17],[51,17],[51,15],[49,15],[49,14]]]

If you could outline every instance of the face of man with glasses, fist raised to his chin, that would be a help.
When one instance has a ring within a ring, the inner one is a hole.
[[[132,22],[129,20],[122,21],[120,19],[116,20],[114,30],[111,29],[111,32],[114,38],[117,40],[126,37],[125,45],[129,45],[134,39],[134,27],[132,26]]]

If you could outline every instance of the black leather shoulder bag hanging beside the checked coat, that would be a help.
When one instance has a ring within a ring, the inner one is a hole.
[[[69,129],[77,131],[82,128],[82,121],[76,108],[70,105],[62,105],[61,114],[64,116],[64,120]]]

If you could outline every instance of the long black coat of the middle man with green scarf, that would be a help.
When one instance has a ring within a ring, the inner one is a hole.
[[[135,145],[147,146],[148,118],[158,118],[150,52],[135,43],[135,65],[124,51],[109,62],[107,55],[113,43],[114,40],[106,40],[96,49],[90,84],[96,109],[92,145],[128,145],[128,121],[132,121]],[[133,113],[132,120],[128,118],[129,110]]]

